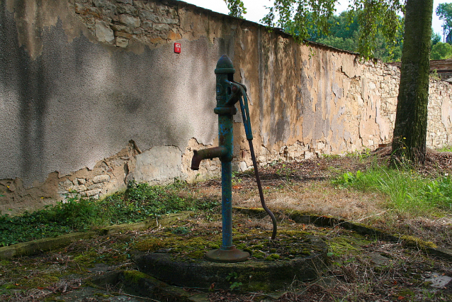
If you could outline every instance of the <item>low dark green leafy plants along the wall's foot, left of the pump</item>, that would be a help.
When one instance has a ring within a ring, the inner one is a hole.
[[[187,184],[149,186],[131,182],[128,189],[100,201],[72,194],[64,202],[21,216],[0,216],[0,246],[66,233],[135,223],[149,217],[217,206],[210,198],[183,194]]]

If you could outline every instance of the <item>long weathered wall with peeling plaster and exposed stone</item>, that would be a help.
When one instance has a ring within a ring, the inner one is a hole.
[[[173,52],[173,43],[182,52]],[[229,55],[248,88],[261,163],[390,142],[397,67],[298,45],[181,1],[0,2],[0,211],[69,191],[111,194],[130,180],[193,181],[193,149],[215,145],[215,74]],[[450,145],[451,85],[432,80],[431,147]],[[251,158],[237,115],[235,168]],[[198,174],[199,173],[199,174]]]

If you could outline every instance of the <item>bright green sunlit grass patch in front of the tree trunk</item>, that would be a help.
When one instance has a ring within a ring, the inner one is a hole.
[[[424,177],[413,169],[376,166],[366,172],[346,172],[332,179],[341,188],[374,191],[389,197],[388,207],[399,213],[422,216],[452,212],[451,177]]]

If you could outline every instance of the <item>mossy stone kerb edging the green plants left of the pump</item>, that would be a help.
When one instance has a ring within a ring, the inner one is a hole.
[[[146,230],[147,228],[153,228],[157,225],[169,224],[175,220],[186,219],[192,213],[192,211],[183,211],[181,213],[168,214],[160,216],[159,218],[145,220],[140,223],[111,225],[95,231],[70,233],[52,238],[43,238],[29,242],[21,242],[7,247],[0,247],[0,259],[11,259],[17,256],[33,255],[38,252],[45,252],[59,247],[64,247],[65,245],[69,245],[71,242],[88,239],[96,235],[109,235],[113,233],[127,232],[129,230]]]

